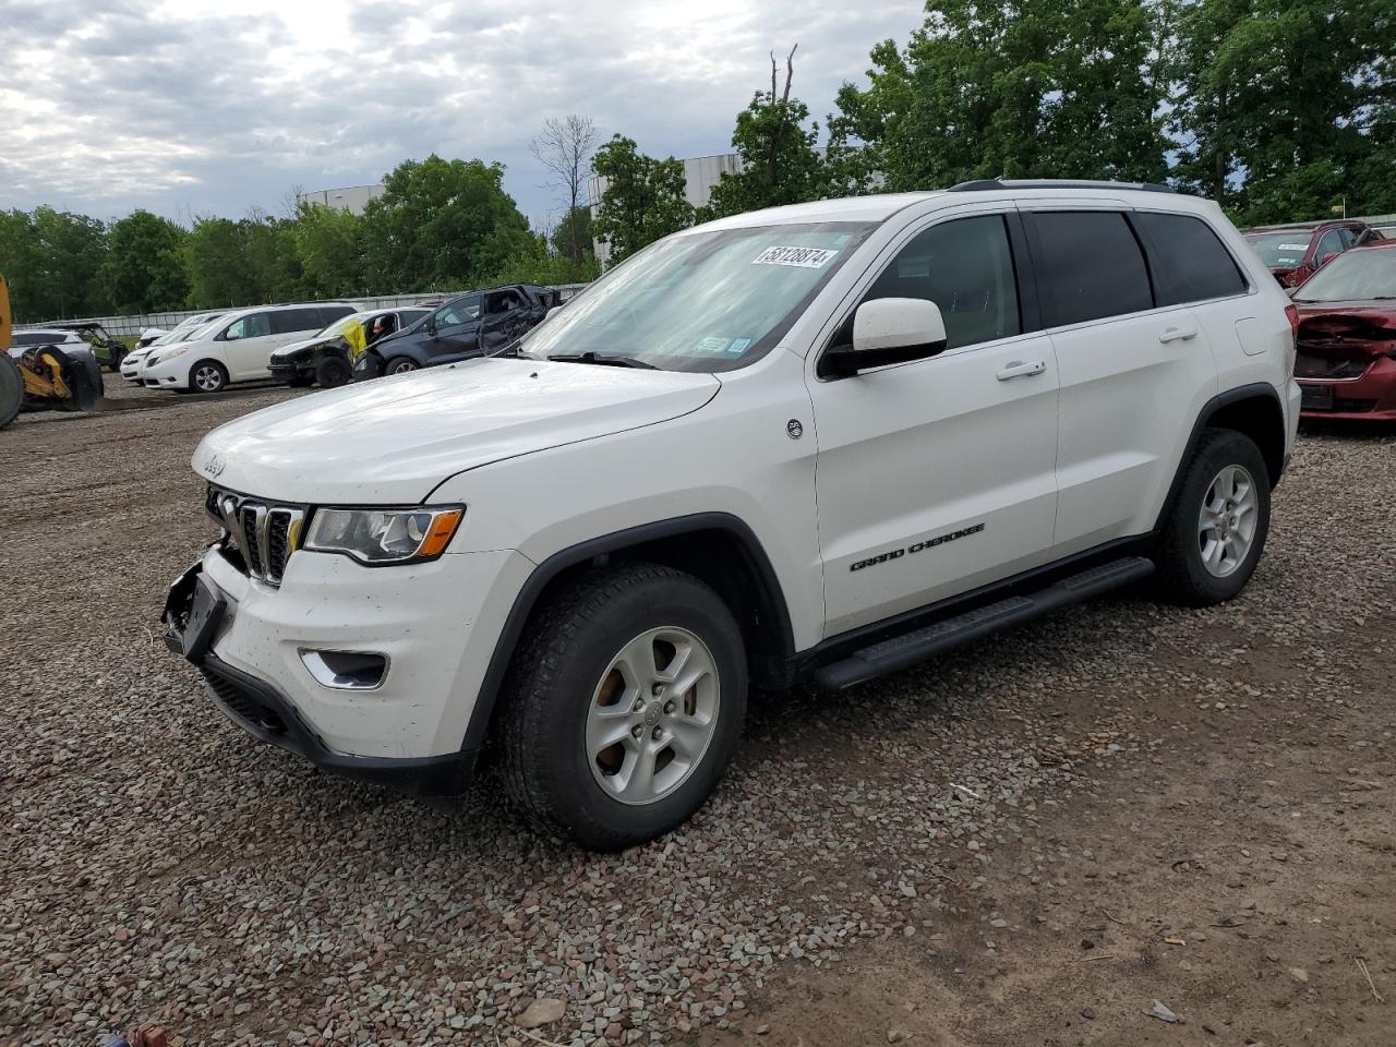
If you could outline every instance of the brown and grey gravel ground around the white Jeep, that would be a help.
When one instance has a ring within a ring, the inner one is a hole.
[[[156,614],[194,444],[292,394],[113,395],[156,409],[0,434],[0,1043],[1393,1041],[1392,431],[1301,440],[1237,602],[758,697],[691,825],[596,857],[226,723]]]

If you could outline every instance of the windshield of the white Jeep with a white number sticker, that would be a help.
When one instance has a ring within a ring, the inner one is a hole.
[[[825,222],[663,240],[535,328],[521,352],[621,356],[669,371],[745,367],[780,341],[872,229]]]

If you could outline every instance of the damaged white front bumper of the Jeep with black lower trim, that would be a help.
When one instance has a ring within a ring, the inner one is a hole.
[[[278,589],[215,546],[170,588],[166,642],[253,737],[335,773],[452,796],[469,782],[476,751],[463,740],[476,695],[530,568],[512,551],[392,568],[299,551]],[[225,606],[190,635],[200,586],[212,593],[205,611],[211,599]],[[306,651],[384,653],[388,670],[374,690],[329,687],[307,669]]]

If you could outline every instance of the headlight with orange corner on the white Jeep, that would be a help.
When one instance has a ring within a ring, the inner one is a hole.
[[[348,553],[362,564],[409,564],[445,551],[463,505],[402,510],[317,510],[304,549]]]

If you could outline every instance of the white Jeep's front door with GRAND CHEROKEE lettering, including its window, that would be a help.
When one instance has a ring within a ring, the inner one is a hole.
[[[1016,214],[913,225],[847,303],[921,297],[946,349],[850,378],[807,377],[829,635],[923,607],[1050,556],[1057,364]],[[825,346],[819,346],[821,350]]]

